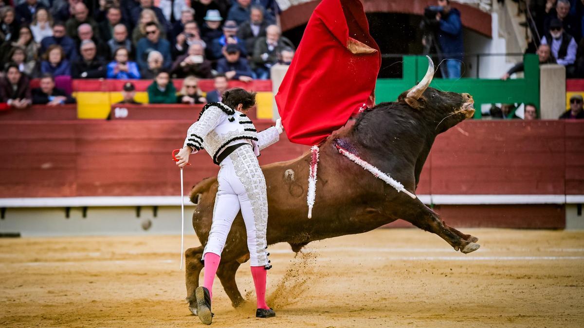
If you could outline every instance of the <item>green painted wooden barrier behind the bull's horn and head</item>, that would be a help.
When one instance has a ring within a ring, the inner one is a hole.
[[[475,118],[481,118],[481,104],[534,103],[540,106],[540,67],[537,55],[524,55],[523,79],[442,79],[432,80],[430,86],[439,90],[470,93],[475,100]],[[420,81],[428,68],[425,56],[404,56],[404,75],[401,79],[378,79],[376,102],[394,102],[399,94]]]

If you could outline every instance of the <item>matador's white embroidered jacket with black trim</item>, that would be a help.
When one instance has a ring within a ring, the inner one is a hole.
[[[227,146],[247,141],[259,156],[260,150],[280,139],[280,132],[276,127],[257,132],[245,114],[213,102],[203,107],[199,120],[190,126],[183,147],[190,146],[193,153],[206,149],[213,163],[219,165],[217,157]]]

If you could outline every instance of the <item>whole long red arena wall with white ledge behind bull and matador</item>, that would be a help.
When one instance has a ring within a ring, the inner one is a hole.
[[[0,121],[2,216],[10,219],[19,207],[176,206],[179,174],[171,151],[190,123]],[[255,124],[263,130],[272,121]],[[457,226],[565,228],[567,207],[582,220],[582,149],[584,122],[465,121],[436,139],[417,194]],[[304,151],[284,138],[259,159],[288,160]],[[185,190],[218,170],[206,155],[194,158]]]

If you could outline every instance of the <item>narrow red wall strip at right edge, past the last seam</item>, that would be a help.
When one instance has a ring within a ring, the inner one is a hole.
[[[566,121],[565,124],[566,194],[582,195],[584,194],[584,122]]]

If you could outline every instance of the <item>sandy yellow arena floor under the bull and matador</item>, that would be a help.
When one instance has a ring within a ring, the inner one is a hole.
[[[215,281],[213,326],[584,326],[584,232],[462,229],[481,249],[454,252],[417,229],[270,247],[269,304],[231,308]],[[198,245],[189,236],[186,245]],[[0,239],[0,326],[192,327],[180,236]]]

